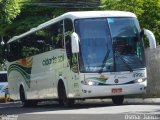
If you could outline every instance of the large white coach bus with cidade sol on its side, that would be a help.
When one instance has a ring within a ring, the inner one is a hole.
[[[11,98],[23,106],[144,94],[144,30],[124,11],[68,12],[7,42]],[[150,41],[154,43],[154,36]],[[154,47],[154,46],[153,46]]]

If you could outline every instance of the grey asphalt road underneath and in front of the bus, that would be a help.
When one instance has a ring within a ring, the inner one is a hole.
[[[160,120],[160,104],[125,103],[115,106],[100,101],[63,108],[53,102],[22,108],[20,102],[0,103],[0,120],[5,120],[5,117],[15,120]]]

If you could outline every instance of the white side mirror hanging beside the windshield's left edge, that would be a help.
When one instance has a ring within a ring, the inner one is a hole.
[[[79,37],[73,32],[71,35],[72,53],[79,53]]]

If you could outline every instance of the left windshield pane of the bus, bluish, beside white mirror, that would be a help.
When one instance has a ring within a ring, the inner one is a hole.
[[[113,51],[107,18],[75,21],[80,37],[81,72],[113,71]]]

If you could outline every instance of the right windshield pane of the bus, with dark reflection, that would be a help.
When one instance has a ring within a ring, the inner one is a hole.
[[[136,18],[108,18],[113,39],[116,71],[145,66],[140,27]]]

